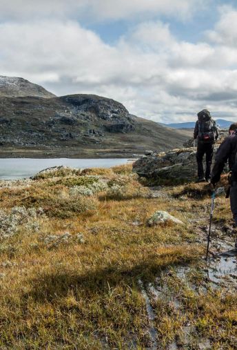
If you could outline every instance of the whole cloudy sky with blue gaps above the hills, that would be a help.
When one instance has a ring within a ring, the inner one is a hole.
[[[237,1],[0,0],[0,75],[159,122],[237,121]]]

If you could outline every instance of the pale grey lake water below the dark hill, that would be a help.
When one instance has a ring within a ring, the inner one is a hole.
[[[103,159],[32,159],[32,158],[1,158],[0,179],[23,179],[51,166],[72,166],[72,168],[110,168],[110,166],[126,164],[124,158]]]

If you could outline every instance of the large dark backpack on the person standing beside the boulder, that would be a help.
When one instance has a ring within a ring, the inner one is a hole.
[[[201,110],[198,113],[198,141],[205,144],[214,143],[216,130],[216,121],[212,119],[209,110]]]

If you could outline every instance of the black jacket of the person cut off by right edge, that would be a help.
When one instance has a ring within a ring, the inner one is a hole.
[[[220,175],[227,161],[229,162],[229,170],[231,170],[236,162],[236,152],[237,133],[226,137],[216,152],[215,164],[212,169],[212,184],[216,184],[220,180]]]

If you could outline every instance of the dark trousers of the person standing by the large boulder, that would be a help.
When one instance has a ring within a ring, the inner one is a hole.
[[[212,166],[212,157],[214,153],[214,144],[201,144],[198,143],[198,150],[196,153],[196,161],[198,163],[198,178],[209,179]],[[206,155],[206,171],[204,176],[203,170],[203,156]]]

